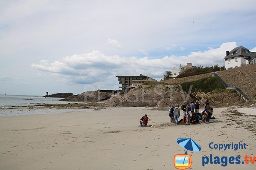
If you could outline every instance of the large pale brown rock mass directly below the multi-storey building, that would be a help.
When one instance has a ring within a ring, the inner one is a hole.
[[[105,101],[106,105],[111,106],[156,106],[168,107],[176,103],[192,100],[191,97],[180,90],[178,85],[141,85],[131,89],[125,94],[115,94]]]

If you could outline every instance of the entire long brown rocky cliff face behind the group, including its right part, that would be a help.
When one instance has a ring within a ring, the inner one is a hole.
[[[206,99],[209,100],[212,107],[243,105],[244,100],[233,90],[225,90],[220,93],[197,93],[195,99],[181,90],[178,85],[155,85],[148,87],[140,86],[134,88],[126,94],[115,94],[105,101],[106,105],[137,107],[151,106],[157,108],[166,108],[174,104],[182,105],[184,102],[198,100],[204,106]]]

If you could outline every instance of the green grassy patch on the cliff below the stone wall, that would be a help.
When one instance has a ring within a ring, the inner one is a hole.
[[[192,85],[192,93],[201,91],[204,93],[213,92],[220,93],[225,91],[226,88],[221,84],[217,77],[206,77],[192,82],[182,83],[183,91],[189,92],[189,88]]]

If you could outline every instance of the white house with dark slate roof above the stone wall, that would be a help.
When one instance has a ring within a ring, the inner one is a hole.
[[[226,69],[256,64],[256,52],[251,52],[247,48],[240,46],[231,51],[226,51],[224,59]]]

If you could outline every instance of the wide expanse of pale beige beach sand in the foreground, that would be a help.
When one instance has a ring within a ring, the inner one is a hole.
[[[255,170],[256,164],[206,164],[202,157],[256,156],[256,109],[247,114],[215,108],[217,119],[199,125],[169,123],[167,111],[105,108],[99,111],[0,117],[0,170],[174,170],[173,156],[184,153],[177,138],[202,146],[188,151],[193,170]],[[145,113],[149,125],[140,127]],[[250,114],[251,113],[251,114]],[[216,150],[209,143],[246,143],[247,149]]]

